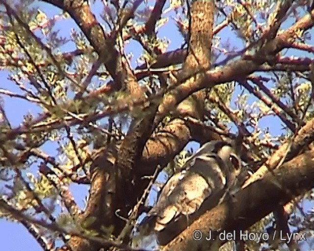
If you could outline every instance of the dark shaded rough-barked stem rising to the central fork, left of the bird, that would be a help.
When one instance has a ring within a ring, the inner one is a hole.
[[[131,124],[130,131],[122,141],[114,166],[115,201],[111,206],[115,211],[119,210],[119,215],[125,219],[128,218],[129,211],[136,205],[148,185],[148,181],[143,182],[137,172],[143,149],[152,133],[157,104],[151,105],[148,109],[145,109],[144,115],[139,115],[140,117],[135,118],[134,123]],[[126,222],[118,217],[114,219],[114,234],[117,236]]]

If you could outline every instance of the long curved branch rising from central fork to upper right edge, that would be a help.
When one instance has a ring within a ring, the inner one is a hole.
[[[209,88],[217,83],[230,82],[234,79],[252,74],[268,60],[267,55],[276,55],[279,51],[284,49],[286,45],[285,41],[293,38],[296,30],[307,30],[313,25],[314,10],[262,46],[262,48],[253,56],[252,60],[239,59],[225,65],[223,67],[224,71],[218,69],[212,71],[199,71],[195,75],[189,76],[188,79],[182,79],[182,84],[178,84],[174,90],[171,90],[168,95],[164,96],[164,99],[158,108],[155,124],[162,120],[162,118],[169,112],[169,109],[176,107],[176,105],[192,93],[203,88]],[[204,75],[203,81],[191,81],[199,75]]]

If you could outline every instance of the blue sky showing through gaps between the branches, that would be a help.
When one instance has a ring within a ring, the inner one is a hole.
[[[9,1],[8,1],[9,2]],[[99,1],[97,1],[99,4]],[[150,5],[152,6],[152,3],[155,1],[148,1]],[[37,4],[37,3],[36,3]],[[97,10],[99,10],[99,5],[95,4],[92,8],[94,13],[97,14]],[[165,8],[168,8],[169,3],[166,4]],[[35,6],[35,5],[34,5]],[[47,14],[48,17],[51,17],[55,14],[59,14],[60,10],[57,8],[52,7],[52,5],[48,5],[46,3],[39,3],[38,6]],[[167,14],[167,16],[175,16],[174,12],[171,11]],[[68,37],[70,34],[71,28],[76,27],[73,21],[57,21],[57,24],[54,26],[54,29],[60,29],[59,35]],[[314,33],[313,30],[311,31],[311,35],[313,37]],[[229,39],[229,41],[233,44],[233,46],[237,47],[238,49],[243,47],[243,43],[236,37],[235,33],[230,30],[230,28],[224,28],[222,31],[218,33],[218,36],[221,37],[221,41],[226,41]],[[158,37],[166,37],[169,40],[169,47],[168,50],[174,50],[181,46],[182,44],[182,37],[174,24],[173,20],[169,18],[169,22],[159,29],[158,31]],[[73,44],[67,44],[62,48],[65,51],[71,51],[74,49]],[[130,42],[128,46],[126,47],[127,52],[132,52],[133,58],[131,60],[132,66],[136,67],[137,62],[136,58],[140,55],[141,49],[137,42]],[[291,52],[292,53],[292,52]],[[293,53],[296,56],[308,56],[307,54],[300,54]],[[313,56],[312,56],[313,57]],[[13,92],[19,92],[19,89],[8,79],[8,73],[5,71],[0,72],[0,88],[4,88]],[[236,95],[239,94],[239,88],[237,88],[237,91],[235,92]],[[22,120],[23,116],[27,112],[31,112],[34,116],[36,116],[41,109],[33,104],[30,104],[29,102],[26,102],[25,100],[17,100],[14,98],[8,98],[3,97],[4,100],[4,107],[5,111],[7,113],[7,116],[11,122],[12,126],[18,126]],[[255,101],[254,98],[250,98],[249,102]],[[277,126],[276,126],[277,125]],[[270,127],[270,131],[273,135],[278,135],[282,132],[281,130],[281,121],[278,118],[275,118],[273,116],[267,116],[266,118],[262,119],[260,121],[260,127],[266,128]],[[191,143],[187,145],[187,149],[190,148],[197,148],[198,144]],[[56,144],[53,142],[46,143],[42,150],[47,152],[48,154],[51,154],[52,156],[56,155]],[[32,172],[34,174],[37,174],[37,166],[33,166],[30,170],[27,170],[27,172]],[[165,176],[161,175],[160,179],[164,179]],[[1,185],[0,185],[1,187]],[[73,196],[76,198],[76,201],[78,203],[78,206],[83,208],[84,206],[84,199],[87,195],[87,188],[86,185],[72,185],[71,191],[73,193]],[[153,200],[153,198],[151,198]],[[33,237],[27,232],[26,228],[18,223],[12,223],[8,222],[4,219],[0,219],[0,244],[1,249],[6,251],[40,251],[42,250],[38,243],[33,239]]]

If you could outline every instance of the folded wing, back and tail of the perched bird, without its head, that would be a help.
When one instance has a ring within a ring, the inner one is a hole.
[[[227,168],[217,155],[189,159],[184,170],[165,184],[156,205],[140,224],[140,232],[148,235],[152,230],[161,231],[180,214],[194,213],[205,199],[225,187],[226,172]]]

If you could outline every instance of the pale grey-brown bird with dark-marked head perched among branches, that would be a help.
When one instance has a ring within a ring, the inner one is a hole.
[[[140,235],[158,233],[180,215],[188,219],[205,200],[228,193],[241,171],[236,154],[241,145],[235,144],[231,140],[210,141],[189,157],[182,171],[171,176],[163,186],[156,205],[139,224]]]

